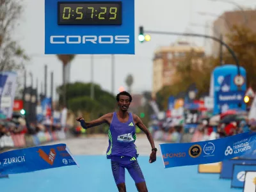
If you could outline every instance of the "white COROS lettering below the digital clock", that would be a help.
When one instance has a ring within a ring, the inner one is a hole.
[[[72,40],[71,40],[72,39]],[[51,44],[86,44],[86,42],[91,42],[92,44],[129,44],[129,35],[52,35],[50,38]]]

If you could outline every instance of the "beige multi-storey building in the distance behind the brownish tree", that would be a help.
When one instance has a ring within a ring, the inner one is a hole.
[[[186,54],[194,51],[201,58],[204,57],[205,50],[203,47],[197,47],[186,41],[175,42],[167,47],[160,47],[154,52],[153,60],[153,83],[152,97],[156,97],[156,93],[173,83],[176,67],[180,61],[186,58]],[[196,62],[202,62],[202,60]]]

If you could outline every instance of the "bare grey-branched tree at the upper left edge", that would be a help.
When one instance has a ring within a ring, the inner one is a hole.
[[[24,63],[29,60],[13,38],[21,14],[21,1],[0,0],[0,71],[24,70]]]

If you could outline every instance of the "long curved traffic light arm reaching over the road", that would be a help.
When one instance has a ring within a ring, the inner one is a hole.
[[[235,54],[235,52],[227,45],[223,40],[220,40],[219,38],[216,38],[214,36],[209,36],[209,35],[200,35],[200,34],[195,34],[195,33],[175,33],[175,32],[164,32],[164,31],[143,31],[143,28],[140,27],[140,34],[141,33],[151,33],[151,34],[158,34],[158,35],[183,35],[183,36],[198,36],[198,37],[204,37],[204,38],[211,38],[212,40],[219,42],[221,45],[224,45],[230,54],[232,54],[232,57],[234,58],[236,65],[237,65],[237,74],[240,76],[240,65],[239,65],[239,60]]]

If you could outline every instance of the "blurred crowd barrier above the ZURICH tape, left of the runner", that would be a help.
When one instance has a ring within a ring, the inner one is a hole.
[[[22,148],[38,146],[49,141],[64,140],[66,133],[64,131],[38,132],[37,134],[11,134],[10,136],[1,136],[0,150],[3,148]]]

